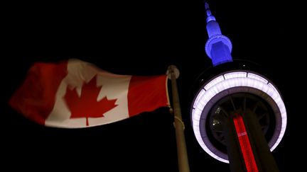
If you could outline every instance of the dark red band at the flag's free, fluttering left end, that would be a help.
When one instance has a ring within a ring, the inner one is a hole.
[[[9,105],[34,122],[45,125],[45,118],[53,109],[58,86],[67,74],[67,61],[33,64],[25,81],[11,97]]]

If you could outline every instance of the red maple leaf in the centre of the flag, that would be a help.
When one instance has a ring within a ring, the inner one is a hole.
[[[96,76],[88,83],[83,84],[81,95],[77,94],[76,88],[66,88],[65,102],[70,109],[70,118],[86,117],[86,125],[89,125],[88,117],[103,117],[104,113],[115,108],[117,99],[108,100],[106,96],[97,101],[102,86],[97,86]]]

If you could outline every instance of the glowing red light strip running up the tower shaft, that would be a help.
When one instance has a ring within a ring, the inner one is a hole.
[[[239,144],[247,171],[258,172],[257,164],[254,159],[254,154],[252,152],[252,147],[249,143],[249,138],[247,136],[247,131],[245,129],[242,116],[239,114],[235,114],[233,121],[235,123],[235,129],[237,131],[237,137],[239,139]]]

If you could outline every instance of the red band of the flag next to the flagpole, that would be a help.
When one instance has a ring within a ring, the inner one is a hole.
[[[166,92],[166,75],[132,76],[128,92],[129,116],[167,106]]]

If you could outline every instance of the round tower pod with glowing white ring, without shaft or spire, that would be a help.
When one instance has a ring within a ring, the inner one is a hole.
[[[233,107],[251,110],[273,151],[286,130],[286,108],[276,86],[249,62],[236,61],[208,69],[195,84],[190,110],[193,132],[213,158],[229,163],[220,115]]]

